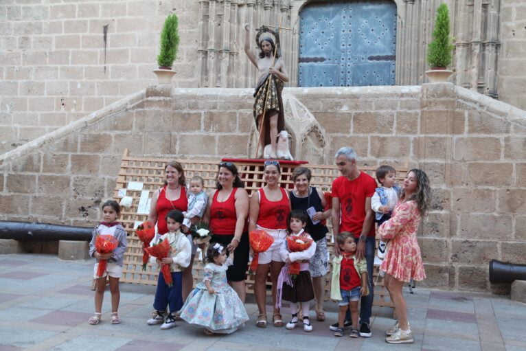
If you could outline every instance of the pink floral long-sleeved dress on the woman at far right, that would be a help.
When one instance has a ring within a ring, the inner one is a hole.
[[[415,201],[400,201],[391,219],[377,229],[382,240],[391,239],[380,269],[402,282],[426,278],[416,240],[421,217]]]

